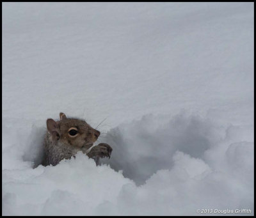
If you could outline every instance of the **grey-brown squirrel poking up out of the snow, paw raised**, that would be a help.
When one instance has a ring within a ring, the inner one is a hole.
[[[44,159],[43,166],[56,166],[63,159],[76,157],[81,151],[89,158],[95,159],[109,157],[112,152],[111,146],[100,143],[93,146],[100,136],[100,132],[92,128],[86,121],[77,118],[67,118],[60,113],[60,120],[47,119],[47,132],[44,137]],[[93,146],[93,147],[92,147]],[[88,152],[89,148],[92,149]]]

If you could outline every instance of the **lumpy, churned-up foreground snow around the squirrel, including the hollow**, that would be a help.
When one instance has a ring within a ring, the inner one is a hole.
[[[3,169],[3,215],[196,215],[198,208],[253,208],[253,142],[244,141],[253,140],[249,127],[184,113],[149,114],[100,138],[113,147],[100,166],[77,153],[57,166],[33,169],[40,148],[31,144],[40,144],[39,130],[33,125],[30,133],[37,143],[30,137],[19,152],[15,144],[4,150],[13,162]]]

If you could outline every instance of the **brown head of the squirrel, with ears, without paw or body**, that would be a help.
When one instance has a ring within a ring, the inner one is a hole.
[[[100,132],[92,128],[86,121],[77,118],[67,118],[60,113],[60,121],[47,119],[47,130],[55,143],[88,149],[97,141]]]

